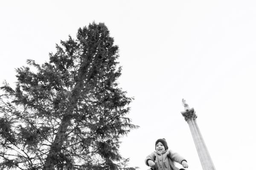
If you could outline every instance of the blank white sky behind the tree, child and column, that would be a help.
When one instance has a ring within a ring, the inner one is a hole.
[[[42,64],[55,43],[93,20],[119,45],[120,87],[134,96],[120,153],[130,166],[165,138],[188,170],[202,170],[181,99],[195,108],[216,170],[253,169],[256,159],[255,0],[0,1],[0,81],[26,59]]]

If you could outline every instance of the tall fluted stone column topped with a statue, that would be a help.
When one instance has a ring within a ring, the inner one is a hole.
[[[186,122],[188,122],[189,124],[189,128],[190,128],[203,170],[215,170],[214,164],[207,150],[206,144],[204,143],[203,136],[197,125],[197,122],[196,122],[197,115],[195,114],[194,108],[190,109],[189,105],[186,104],[186,100],[182,99],[182,102],[185,107],[185,111],[181,112],[181,114],[185,118]]]

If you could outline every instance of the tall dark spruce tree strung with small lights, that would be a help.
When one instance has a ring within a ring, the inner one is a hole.
[[[104,23],[79,28],[49,62],[17,68],[16,88],[0,97],[0,168],[135,170],[119,154],[136,125],[132,98],[118,88],[118,46]],[[36,71],[32,71],[31,68]]]

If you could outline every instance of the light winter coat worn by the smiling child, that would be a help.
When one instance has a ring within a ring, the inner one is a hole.
[[[186,161],[186,159],[184,159],[178,153],[173,152],[172,150],[165,150],[163,153],[158,153],[154,151],[145,159],[145,164],[147,166],[149,166],[148,160],[154,161],[155,170],[172,170],[171,165],[174,165],[173,161],[179,164],[181,164],[182,161]]]

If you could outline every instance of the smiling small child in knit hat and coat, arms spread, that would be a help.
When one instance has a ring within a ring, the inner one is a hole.
[[[182,164],[184,168],[189,167],[186,159],[178,153],[168,150],[168,145],[165,139],[158,139],[155,144],[155,150],[145,159],[145,164],[151,167],[151,170],[184,170],[175,167],[174,162]]]

